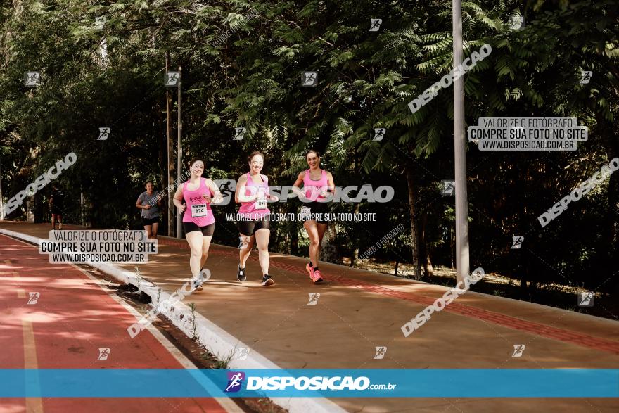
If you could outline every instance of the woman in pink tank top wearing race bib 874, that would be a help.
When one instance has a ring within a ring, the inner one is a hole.
[[[211,203],[223,201],[222,194],[217,189],[215,182],[211,179],[203,178],[204,161],[193,159],[189,163],[191,178],[179,185],[174,193],[174,205],[183,213],[183,229],[185,238],[191,248],[189,258],[189,268],[191,269],[191,279],[193,280],[193,291],[200,291],[201,283],[196,280],[203,269],[208,248],[215,231],[215,217],[210,209]]]

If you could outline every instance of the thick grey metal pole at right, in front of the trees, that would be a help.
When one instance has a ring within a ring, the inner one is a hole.
[[[462,63],[462,5],[452,0],[454,68]],[[456,282],[469,274],[468,201],[466,196],[466,151],[464,145],[464,73],[454,80],[454,166],[456,181]]]

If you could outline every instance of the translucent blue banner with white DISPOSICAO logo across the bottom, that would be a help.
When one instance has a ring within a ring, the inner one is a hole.
[[[2,398],[618,398],[619,369],[0,369]]]

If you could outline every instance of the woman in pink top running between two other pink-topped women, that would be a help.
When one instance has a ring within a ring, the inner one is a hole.
[[[267,199],[278,201],[276,196],[269,195],[269,178],[260,174],[264,165],[264,155],[253,151],[248,157],[249,172],[241,175],[236,184],[234,201],[241,203],[238,215],[241,218],[236,223],[241,238],[241,248],[238,252],[238,281],[245,281],[245,262],[249,258],[254,243],[258,247],[258,262],[262,269],[262,285],[272,286],[273,279],[269,275],[269,208]]]

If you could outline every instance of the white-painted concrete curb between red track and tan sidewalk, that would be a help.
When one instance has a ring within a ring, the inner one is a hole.
[[[1,229],[0,234],[11,236],[16,239],[21,239],[34,245],[39,245],[39,240],[35,236],[22,234],[20,232],[10,231],[8,229]],[[136,274],[117,268],[111,264],[101,264],[97,262],[88,263],[91,267],[99,269],[115,279],[132,284],[138,287],[141,291],[148,294],[151,297],[153,303],[157,301],[159,293],[159,301],[162,302],[170,298],[171,294],[162,291],[161,288],[155,286],[151,281],[146,279],[139,280]],[[189,300],[189,296],[185,300]],[[157,303],[158,304],[158,303]],[[172,307],[168,307],[167,310],[162,308],[161,314],[172,320],[175,326],[183,331],[186,336],[193,336],[193,317],[191,314],[191,308],[189,305],[182,303],[181,301],[174,304]],[[137,320],[136,320],[137,321]],[[229,362],[229,369],[281,369],[274,362],[267,359],[260,353],[254,351],[249,345],[246,345],[238,338],[232,336],[227,331],[224,331],[219,326],[211,322],[209,319],[201,314],[196,313],[196,335],[198,336],[198,342],[213,352],[219,360],[226,359],[226,357],[234,357],[238,352],[238,348],[246,347],[249,349],[248,356],[245,360],[233,359]],[[127,333],[127,338],[129,333]],[[283,369],[281,369],[283,370]],[[283,370],[282,372],[284,372]],[[343,413],[346,412],[336,403],[331,402],[327,398],[271,398],[276,404],[287,409],[291,413]]]

